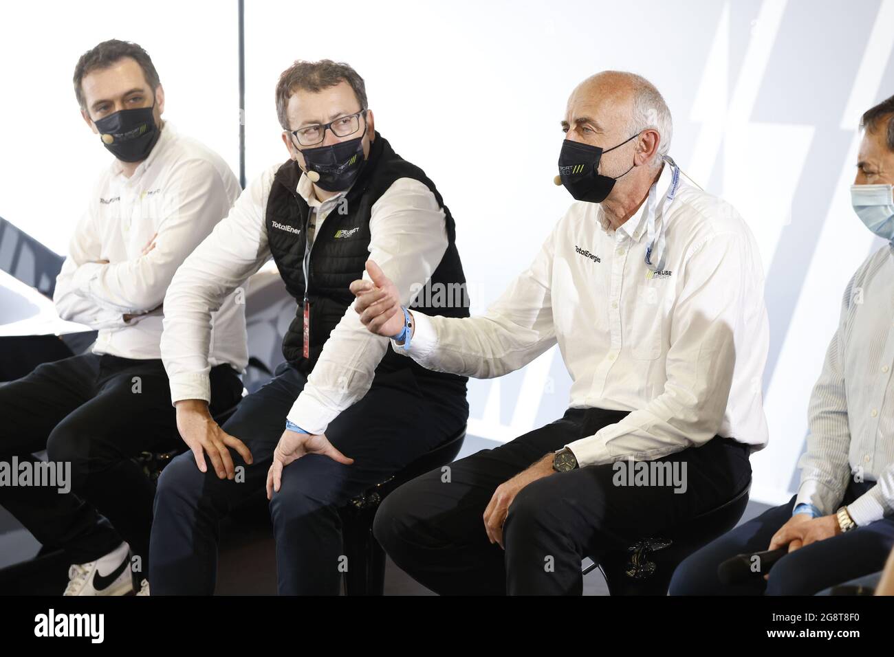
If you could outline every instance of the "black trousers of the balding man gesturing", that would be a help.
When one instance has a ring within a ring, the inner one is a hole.
[[[678,464],[683,493],[670,485],[617,485],[611,465],[555,473],[512,501],[505,552],[489,543],[483,516],[498,485],[625,415],[569,409],[551,425],[452,463],[449,474],[419,476],[385,498],[375,537],[401,569],[439,594],[581,594],[586,556],[598,562],[600,554],[717,507],[751,477],[747,446],[719,437],[658,459]]]

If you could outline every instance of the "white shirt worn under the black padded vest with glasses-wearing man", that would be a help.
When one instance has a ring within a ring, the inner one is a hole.
[[[187,258],[164,298],[162,358],[175,402],[208,399],[207,309],[271,257],[266,205],[279,167],[274,164],[252,181],[230,214]],[[318,238],[342,195],[319,201],[304,174],[297,191],[316,214],[312,218]],[[401,178],[373,204],[369,232],[369,257],[398,285],[401,302],[409,304],[410,292],[425,284],[447,250],[443,209],[425,184]],[[364,277],[368,279],[366,273]],[[288,419],[311,434],[323,434],[342,410],[367,393],[387,349],[388,339],[369,333],[349,307],[330,333]]]

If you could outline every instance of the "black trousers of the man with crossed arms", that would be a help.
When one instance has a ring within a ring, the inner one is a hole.
[[[212,368],[210,377],[212,413],[240,400],[231,366]],[[0,486],[0,504],[73,563],[96,560],[123,540],[148,569],[155,486],[131,459],[182,446],[162,361],[91,353],[44,363],[0,383],[0,417],[0,459],[34,462],[33,452],[46,449],[50,461],[71,464],[72,478],[71,493]]]

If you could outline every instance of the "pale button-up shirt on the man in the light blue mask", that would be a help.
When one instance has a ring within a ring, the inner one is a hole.
[[[848,481],[876,484],[848,505],[858,526],[894,513],[894,247],[885,245],[848,283],[809,407],[797,502],[833,513]]]

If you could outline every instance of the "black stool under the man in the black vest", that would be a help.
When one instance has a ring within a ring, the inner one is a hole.
[[[373,535],[373,518],[379,505],[401,484],[424,475],[436,467],[443,467],[456,459],[466,428],[386,479],[358,495],[339,510],[342,517],[342,536],[348,570],[345,573],[345,594],[382,595],[385,578],[385,552]]]

